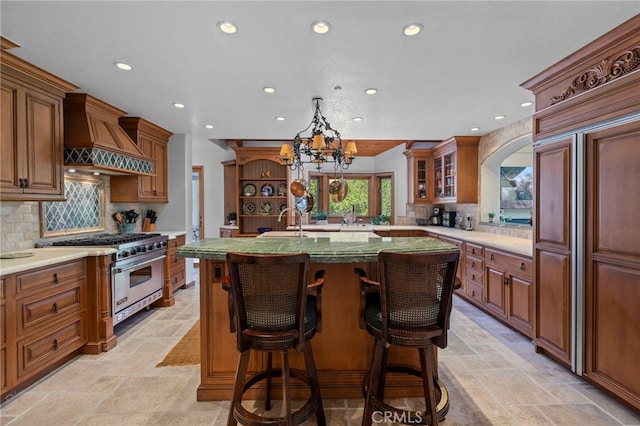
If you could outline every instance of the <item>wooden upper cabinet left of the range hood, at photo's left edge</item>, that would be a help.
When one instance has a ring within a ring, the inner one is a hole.
[[[77,87],[6,50],[1,67],[0,197],[64,200],[62,102]]]

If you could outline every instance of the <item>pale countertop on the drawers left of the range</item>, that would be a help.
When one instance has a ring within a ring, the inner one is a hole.
[[[110,247],[43,247],[3,253],[3,255],[18,256],[23,253],[33,253],[33,256],[0,259],[0,275],[15,274],[42,266],[55,265],[56,263],[68,262],[88,256],[113,254],[115,252],[116,249]]]

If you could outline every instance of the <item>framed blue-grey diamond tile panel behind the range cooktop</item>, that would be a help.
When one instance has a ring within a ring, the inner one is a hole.
[[[43,202],[42,236],[104,229],[104,183],[89,177],[65,177],[66,201]]]

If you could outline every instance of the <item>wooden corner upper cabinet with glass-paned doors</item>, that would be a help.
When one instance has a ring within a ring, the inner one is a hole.
[[[477,203],[479,136],[454,136],[405,152],[409,203]]]

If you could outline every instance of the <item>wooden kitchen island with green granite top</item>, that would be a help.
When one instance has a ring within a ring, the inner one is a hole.
[[[226,254],[243,253],[309,253],[309,280],[316,271],[324,270],[322,290],[322,331],[312,340],[313,352],[323,398],[362,398],[362,381],[369,367],[373,339],[359,327],[360,286],[354,268],[362,268],[377,278],[376,263],[381,250],[405,252],[442,252],[457,250],[456,246],[434,238],[370,238],[366,233],[345,238],[330,238],[331,234],[305,238],[212,238],[194,242],[176,251],[177,256],[200,259],[200,337],[201,382],[199,401],[230,400],[239,354],[236,338],[229,330],[228,292],[220,281],[225,275]],[[338,241],[340,240],[340,241]],[[303,357],[291,354],[294,368],[303,368]],[[419,366],[417,351],[393,347],[390,362]],[[266,354],[252,354],[251,371],[266,366]],[[390,375],[387,395],[390,397],[420,396],[421,381],[415,377]],[[446,394],[446,392],[443,392]],[[304,395],[304,387],[293,390],[294,396]],[[250,396],[250,395],[249,395]],[[256,392],[254,397],[260,398]],[[441,399],[440,406],[447,404]]]

